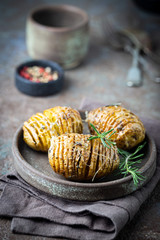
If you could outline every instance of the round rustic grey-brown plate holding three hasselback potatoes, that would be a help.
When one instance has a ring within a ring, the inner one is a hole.
[[[146,134],[144,157],[138,166],[145,177],[135,186],[131,176],[123,178],[115,173],[96,182],[69,181],[53,172],[47,153],[36,152],[23,141],[20,127],[13,140],[14,165],[19,175],[29,184],[54,196],[72,200],[96,201],[125,196],[146,184],[156,169],[156,146]],[[118,171],[118,170],[117,170]]]

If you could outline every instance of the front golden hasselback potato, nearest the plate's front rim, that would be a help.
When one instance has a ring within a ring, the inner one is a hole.
[[[52,137],[48,151],[52,169],[67,179],[85,181],[101,178],[119,166],[116,146],[104,147],[100,139],[69,133]]]

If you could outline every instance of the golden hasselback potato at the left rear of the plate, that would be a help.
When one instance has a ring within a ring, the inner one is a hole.
[[[52,136],[64,133],[82,133],[79,112],[70,107],[55,107],[33,115],[23,125],[23,139],[36,151],[47,152]]]

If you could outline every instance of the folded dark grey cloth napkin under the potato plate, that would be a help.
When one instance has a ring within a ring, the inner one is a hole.
[[[102,105],[85,99],[80,107],[91,110]],[[14,233],[77,240],[114,239],[160,179],[160,124],[146,119],[143,122],[156,141],[158,158],[154,176],[140,190],[110,201],[71,201],[46,194],[13,172],[0,179],[0,216],[12,218]]]

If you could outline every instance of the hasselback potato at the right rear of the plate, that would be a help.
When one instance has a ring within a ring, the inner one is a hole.
[[[116,131],[111,139],[116,142],[118,148],[131,149],[145,138],[145,128],[140,119],[131,111],[122,106],[105,106],[94,109],[88,114],[88,126],[91,134],[95,134],[90,123],[100,133],[110,129]]]

